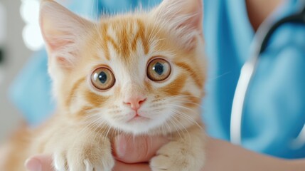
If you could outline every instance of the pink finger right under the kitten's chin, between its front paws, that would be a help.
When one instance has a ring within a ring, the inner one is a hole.
[[[169,140],[161,136],[130,137],[118,135],[114,138],[114,156],[126,163],[149,162],[156,151]]]

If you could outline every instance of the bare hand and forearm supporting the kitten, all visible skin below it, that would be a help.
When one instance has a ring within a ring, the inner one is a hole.
[[[122,138],[122,139],[121,139]],[[149,171],[149,160],[168,140],[161,137],[126,138],[122,135],[113,141],[114,171]],[[204,170],[304,170],[305,160],[282,160],[261,155],[223,140],[208,138]],[[234,155],[232,155],[234,154]],[[37,164],[37,165],[36,165]],[[50,156],[37,155],[26,162],[30,171],[53,171]]]

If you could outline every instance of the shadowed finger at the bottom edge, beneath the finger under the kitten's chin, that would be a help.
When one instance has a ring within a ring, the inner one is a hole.
[[[117,161],[113,171],[150,171],[148,163],[126,164]]]

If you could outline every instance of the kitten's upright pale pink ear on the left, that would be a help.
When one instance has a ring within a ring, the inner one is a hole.
[[[65,9],[55,1],[41,1],[40,26],[46,42],[50,65],[63,68],[73,66],[77,60],[77,50],[90,21]]]

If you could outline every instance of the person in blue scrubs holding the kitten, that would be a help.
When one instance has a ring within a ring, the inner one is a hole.
[[[111,9],[105,2],[100,0],[98,5]],[[139,3],[124,0],[127,2]],[[227,142],[232,98],[242,64],[250,57],[255,32],[263,21],[282,19],[296,12],[299,6],[300,0],[204,1],[203,28],[209,69],[203,118],[210,138],[203,170],[304,170],[305,160],[301,158],[305,157],[305,143],[297,146],[291,143],[305,123],[302,74],[305,28],[302,25],[287,24],[272,36],[245,101],[242,146]],[[147,162],[166,143],[162,137],[134,140],[127,141],[123,135],[115,138],[114,170],[149,170]],[[51,162],[50,156],[37,155],[26,162],[26,167],[49,171]]]

